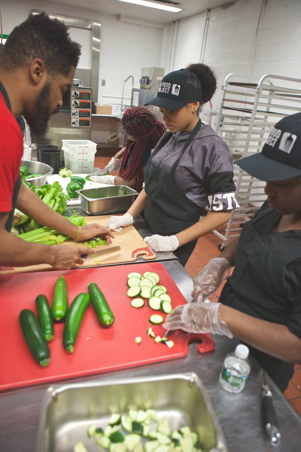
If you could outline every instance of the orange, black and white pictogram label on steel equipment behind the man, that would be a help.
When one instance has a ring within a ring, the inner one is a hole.
[[[71,88],[71,127],[91,126],[91,89]]]

